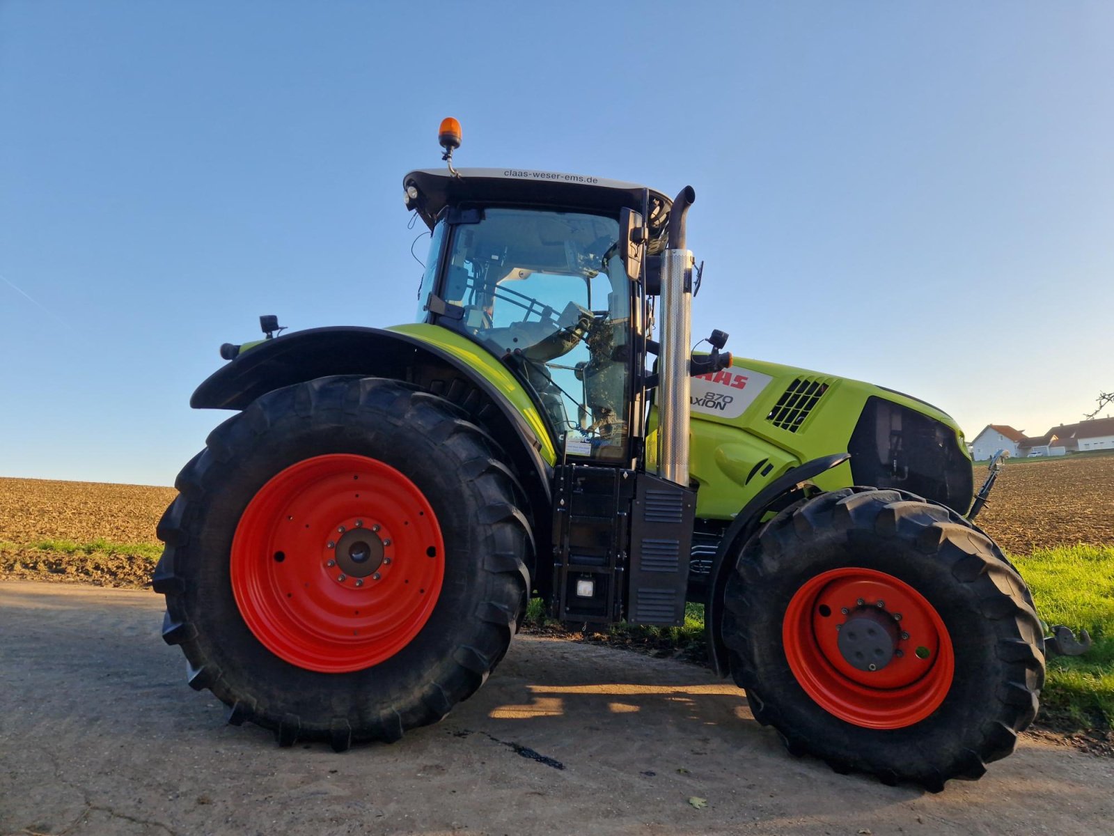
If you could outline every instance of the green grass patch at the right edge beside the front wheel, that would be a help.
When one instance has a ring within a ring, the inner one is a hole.
[[[1114,546],[1063,546],[1014,558],[1048,624],[1086,629],[1082,657],[1051,657],[1043,712],[1068,725],[1114,726]]]

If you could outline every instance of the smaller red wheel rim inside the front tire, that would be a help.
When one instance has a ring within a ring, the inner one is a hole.
[[[892,658],[877,670],[860,667],[869,660],[852,664],[853,653],[840,645],[846,624],[877,624],[891,636]],[[782,641],[805,693],[868,729],[920,722],[944,702],[955,672],[951,639],[936,607],[903,581],[869,568],[836,568],[809,580],[789,602]]]

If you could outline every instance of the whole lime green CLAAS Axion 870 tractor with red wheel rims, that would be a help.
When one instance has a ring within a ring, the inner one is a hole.
[[[262,318],[190,400],[235,415],[158,526],[189,684],[344,750],[475,692],[532,596],[597,625],[697,602],[794,754],[939,790],[1013,751],[1044,639],[965,517],[956,422],[719,331],[694,352],[691,187],[457,171],[453,120],[441,144],[402,184],[431,233],[416,323]]]

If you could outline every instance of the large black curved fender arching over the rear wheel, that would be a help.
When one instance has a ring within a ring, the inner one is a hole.
[[[476,369],[416,337],[359,325],[295,331],[261,342],[223,366],[197,387],[189,406],[244,409],[275,389],[333,375],[414,383],[467,410],[510,457],[508,464],[514,467],[534,511],[538,542],[548,542],[553,468],[541,457],[537,434]]]

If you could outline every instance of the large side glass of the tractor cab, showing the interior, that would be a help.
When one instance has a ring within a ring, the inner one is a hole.
[[[629,281],[614,217],[488,208],[455,227],[441,298],[535,391],[570,455],[626,450]]]

